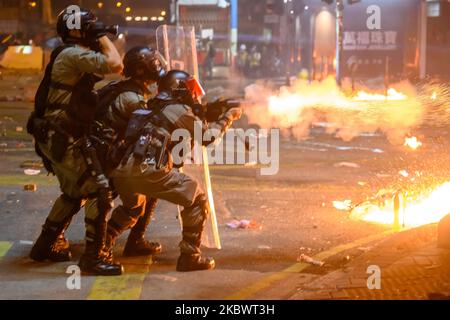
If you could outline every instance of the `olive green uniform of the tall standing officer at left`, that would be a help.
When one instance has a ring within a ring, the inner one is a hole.
[[[104,75],[111,73],[111,71],[103,54],[81,46],[74,46],[64,49],[58,55],[53,65],[51,77],[54,83],[74,86],[85,73]],[[62,128],[70,127],[71,120],[64,110],[65,107],[69,107],[70,98],[71,91],[51,86],[48,103],[49,105],[59,105],[60,108],[47,110],[45,118],[49,122],[58,123]],[[54,225],[61,225],[62,223],[68,225],[73,215],[83,205],[85,205],[87,220],[95,221],[98,210],[94,195],[99,187],[108,187],[108,181],[104,177],[81,179],[87,170],[87,165],[80,151],[75,147],[77,141],[73,141],[68,147],[61,162],[55,161],[50,151],[53,134],[54,132],[50,130],[48,142],[39,143],[39,147],[52,162],[52,168],[58,178],[63,195],[55,201],[47,221]],[[87,226],[91,229],[90,233],[95,232],[90,224]]]

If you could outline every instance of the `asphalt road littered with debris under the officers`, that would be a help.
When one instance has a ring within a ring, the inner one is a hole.
[[[343,142],[315,128],[305,141],[282,142],[280,171],[275,176],[263,177],[259,168],[251,166],[212,167],[223,249],[204,251],[215,257],[216,270],[175,272],[180,241],[177,209],[161,202],[148,230],[149,239],[163,244],[161,255],[151,264],[149,258],[122,258],[124,235],[116,256],[124,263],[126,274],[116,278],[83,276],[81,289],[69,290],[66,271],[82,252],[83,213],[67,233],[73,262],[35,263],[27,257],[59,194],[55,178],[44,172],[27,176],[20,167],[26,160],[37,160],[31,139],[17,132],[30,109],[30,103],[0,103],[0,129],[4,133],[0,137],[0,299],[283,299],[292,295],[300,282],[342,264],[336,259],[295,281],[272,285],[280,271],[297,263],[300,252],[313,256],[390,230],[389,226],[350,219],[348,212],[332,206],[333,200],[363,201],[382,188],[397,185],[400,170],[445,180],[450,163],[446,128],[417,129],[415,134],[423,137],[424,147],[416,152],[392,146],[382,135]],[[337,166],[342,162],[359,167]],[[37,191],[23,191],[28,183],[35,183]],[[226,224],[233,219],[252,220],[261,228],[231,229]]]

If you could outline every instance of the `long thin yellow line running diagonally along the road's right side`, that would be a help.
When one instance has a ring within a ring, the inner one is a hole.
[[[325,259],[328,259],[328,258],[338,254],[338,253],[353,249],[355,247],[364,246],[373,241],[380,240],[380,239],[382,239],[388,235],[391,235],[393,233],[395,233],[395,231],[389,230],[389,231],[386,231],[386,232],[383,232],[380,234],[376,234],[376,235],[368,236],[368,237],[365,237],[362,239],[358,239],[351,243],[343,244],[343,245],[331,248],[330,250],[320,252],[317,255],[315,255],[313,258],[315,260],[325,260]],[[226,297],[225,300],[250,299],[250,297],[253,296],[255,293],[257,293],[263,289],[266,289],[271,284],[273,284],[277,281],[281,281],[293,273],[300,273],[310,266],[311,265],[306,264],[306,263],[295,263],[292,266],[290,266],[282,271],[271,274],[270,276],[267,276],[267,277],[257,281],[256,283],[253,283],[253,284],[239,290],[238,292],[231,294],[230,296]]]

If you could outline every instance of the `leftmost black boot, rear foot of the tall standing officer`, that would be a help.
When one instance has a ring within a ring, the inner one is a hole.
[[[42,227],[42,232],[36,240],[30,252],[30,258],[35,261],[50,260],[53,262],[66,262],[72,259],[68,244],[62,245],[57,239],[61,236],[61,229],[65,223],[58,224],[46,221]],[[63,235],[64,237],[64,235]]]

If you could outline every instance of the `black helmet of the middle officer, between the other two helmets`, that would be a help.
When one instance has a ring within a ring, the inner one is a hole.
[[[166,74],[166,63],[158,51],[149,47],[134,47],[123,59],[124,75],[136,80],[158,81]]]

